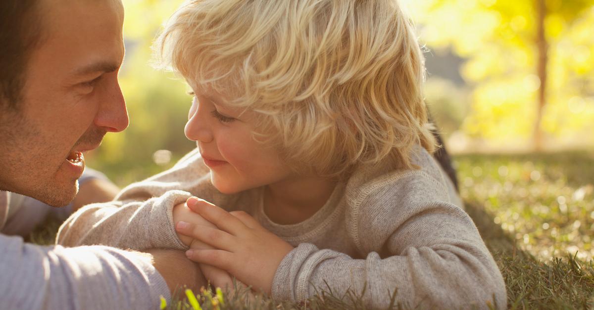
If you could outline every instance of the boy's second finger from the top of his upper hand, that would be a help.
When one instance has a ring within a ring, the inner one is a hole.
[[[231,251],[235,246],[235,237],[223,230],[217,228],[195,225],[186,222],[178,222],[175,225],[175,230],[184,236],[194,238],[198,241],[204,242],[207,245],[214,246],[217,249]]]

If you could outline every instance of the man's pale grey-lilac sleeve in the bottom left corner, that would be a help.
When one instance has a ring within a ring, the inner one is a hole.
[[[170,299],[149,260],[105,246],[38,246],[0,235],[2,309],[157,309]]]

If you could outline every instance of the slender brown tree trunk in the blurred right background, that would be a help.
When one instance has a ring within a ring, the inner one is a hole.
[[[538,106],[536,110],[536,122],[534,127],[534,147],[536,151],[542,150],[542,114],[546,105],[546,64],[548,61],[548,42],[545,37],[545,0],[535,0],[536,2],[536,46],[538,48],[537,72],[541,80],[541,86],[538,89]]]

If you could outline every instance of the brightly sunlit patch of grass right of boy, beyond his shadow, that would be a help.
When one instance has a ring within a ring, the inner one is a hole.
[[[536,257],[594,256],[594,151],[456,157],[470,205]]]

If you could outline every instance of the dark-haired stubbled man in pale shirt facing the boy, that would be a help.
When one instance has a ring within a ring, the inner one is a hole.
[[[83,152],[128,126],[123,18],[120,0],[0,2],[0,231],[11,192],[68,204]],[[0,235],[0,307],[149,309],[180,284],[203,283],[183,252],[149,252]]]

